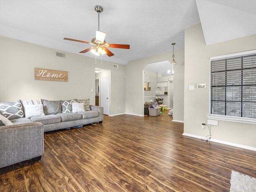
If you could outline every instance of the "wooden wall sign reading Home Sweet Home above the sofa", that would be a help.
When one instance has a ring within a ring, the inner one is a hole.
[[[35,80],[68,81],[67,71],[35,68]]]

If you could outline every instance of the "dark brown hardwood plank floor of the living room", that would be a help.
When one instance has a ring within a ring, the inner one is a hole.
[[[46,134],[40,162],[0,169],[0,191],[228,192],[231,170],[256,177],[255,151],[182,136],[167,113]]]

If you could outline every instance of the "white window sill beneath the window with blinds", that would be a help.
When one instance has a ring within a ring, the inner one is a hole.
[[[253,119],[253,118],[232,117],[232,116],[223,116],[223,115],[209,115],[207,116],[207,118],[212,120],[220,120],[220,121],[256,124],[256,119]]]

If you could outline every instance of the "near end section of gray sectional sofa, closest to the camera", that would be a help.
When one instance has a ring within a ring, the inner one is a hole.
[[[0,168],[32,159],[44,153],[44,126],[39,122],[0,126]]]

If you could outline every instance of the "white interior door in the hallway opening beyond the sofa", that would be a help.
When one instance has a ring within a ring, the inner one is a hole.
[[[103,107],[104,114],[109,115],[109,78],[101,79],[101,106]]]

